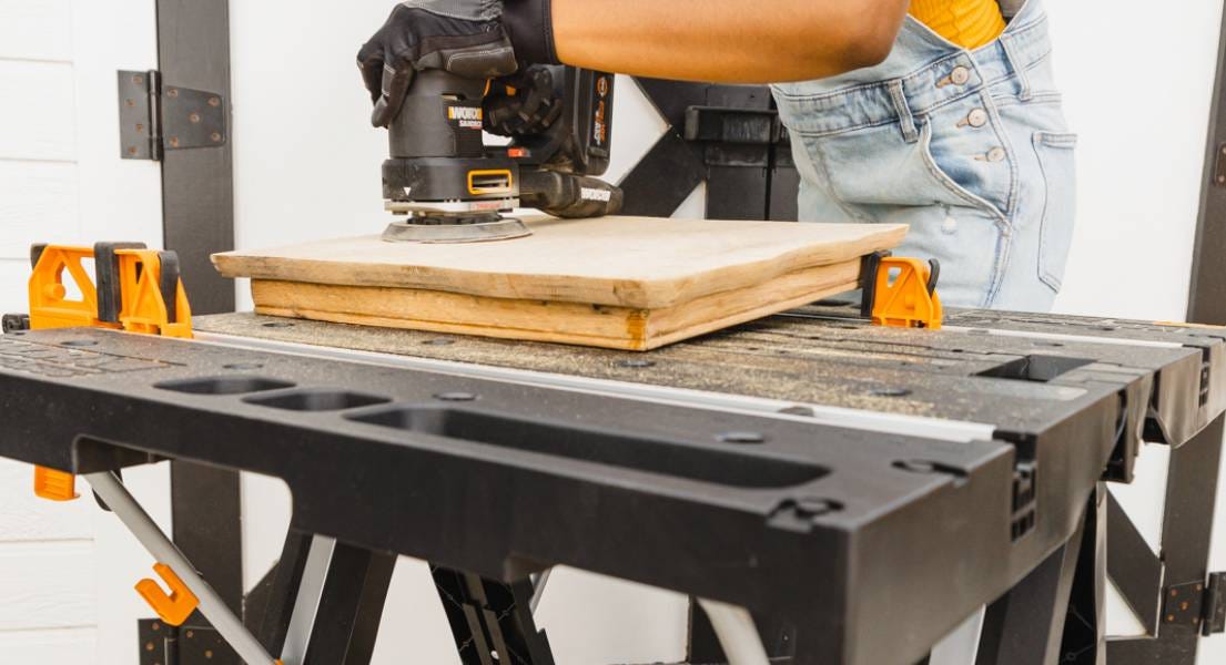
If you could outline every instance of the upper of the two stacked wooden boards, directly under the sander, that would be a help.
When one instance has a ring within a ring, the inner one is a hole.
[[[896,246],[888,224],[607,217],[527,220],[533,235],[465,245],[363,236],[213,256],[226,277],[427,289],[660,310]]]

